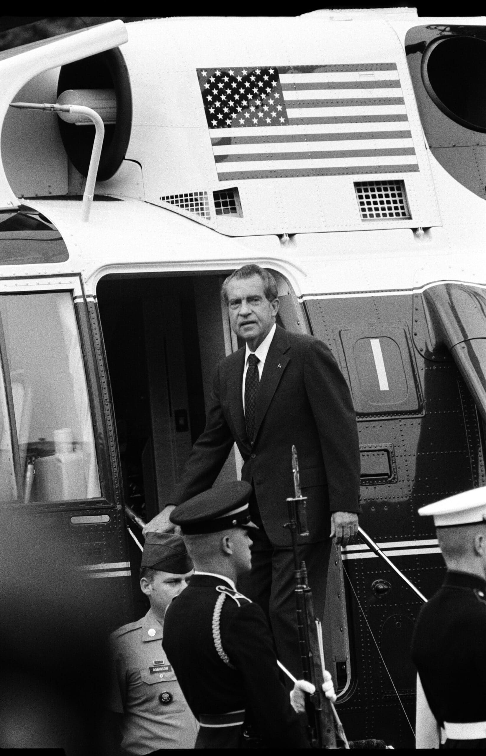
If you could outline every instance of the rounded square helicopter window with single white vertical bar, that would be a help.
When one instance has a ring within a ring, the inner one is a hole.
[[[403,327],[341,331],[358,414],[420,409],[407,333]]]

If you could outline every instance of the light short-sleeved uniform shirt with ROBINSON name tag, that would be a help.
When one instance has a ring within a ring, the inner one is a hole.
[[[122,748],[144,756],[158,748],[193,748],[197,722],[163,649],[163,625],[150,609],[110,636],[108,708],[123,714]]]

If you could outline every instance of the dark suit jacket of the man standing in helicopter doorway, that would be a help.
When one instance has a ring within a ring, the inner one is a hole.
[[[302,494],[308,497],[308,538],[330,534],[331,512],[359,512],[360,453],[351,395],[330,349],[314,336],[277,326],[260,380],[255,440],[243,414],[245,349],[217,367],[206,428],[193,445],[172,502],[186,501],[215,482],[234,442],[252,483],[268,538],[289,546],[286,497],[293,496],[292,445],[299,457]]]

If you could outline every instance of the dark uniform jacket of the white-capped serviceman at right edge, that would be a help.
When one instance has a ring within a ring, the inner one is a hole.
[[[420,610],[412,659],[441,726],[444,721],[486,721],[484,580],[466,572],[447,572],[442,587]],[[484,748],[486,742],[480,742]],[[462,741],[468,748],[480,742]]]

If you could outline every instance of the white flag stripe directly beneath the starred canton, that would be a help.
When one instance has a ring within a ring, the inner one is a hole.
[[[306,123],[292,126],[234,126],[231,129],[209,129],[213,139],[221,137],[265,137],[282,134],[341,134],[345,132],[409,132],[408,121],[373,121],[356,123]]]

